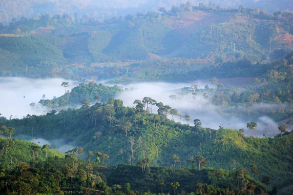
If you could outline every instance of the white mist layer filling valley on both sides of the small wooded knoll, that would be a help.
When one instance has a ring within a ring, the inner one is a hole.
[[[3,117],[21,118],[27,114],[42,115],[49,110],[42,108],[38,102],[45,95],[46,99],[52,99],[54,96],[60,97],[64,94],[65,89],[61,86],[62,82],[66,81],[63,78],[48,78],[48,79],[31,79],[31,78],[0,78],[0,113]],[[68,81],[72,88],[73,82]],[[199,85],[199,88],[204,88],[209,84],[208,80],[197,80],[194,83]],[[142,99],[150,97],[157,102],[163,102],[164,105],[169,105],[176,108],[181,114],[190,115],[190,121],[184,121],[179,117],[174,116],[175,121],[182,123],[189,123],[193,125],[194,119],[200,119],[204,127],[218,129],[219,126],[223,128],[246,129],[246,123],[255,121],[258,124],[256,135],[262,136],[266,132],[270,135],[278,133],[278,124],[267,116],[260,116],[258,118],[251,118],[248,116],[238,117],[237,115],[225,114],[220,112],[221,108],[209,102],[208,99],[203,98],[201,94],[192,97],[192,94],[183,95],[180,89],[189,87],[191,83],[163,83],[163,82],[144,82],[131,83],[123,85],[124,90],[117,99],[123,100],[126,106],[135,106],[133,104],[135,99]],[[131,89],[131,90],[130,90]],[[180,99],[174,100],[169,98],[170,95],[176,95]],[[25,97],[25,98],[23,98]],[[35,102],[36,107],[31,108],[30,103]],[[275,105],[262,105],[261,109],[272,109]],[[257,107],[255,107],[257,109]],[[153,112],[157,112],[156,106],[153,107]],[[168,116],[170,119],[172,116]]]

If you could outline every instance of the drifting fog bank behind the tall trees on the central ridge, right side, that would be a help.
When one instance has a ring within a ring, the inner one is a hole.
[[[206,84],[200,80],[195,81],[194,83],[199,85],[199,88],[203,88]],[[235,117],[230,114],[220,113],[220,108],[209,103],[208,99],[204,99],[201,94],[192,98],[191,94],[183,96],[182,100],[171,100],[170,95],[174,94],[181,97],[181,94],[177,94],[175,89],[180,89],[183,87],[189,87],[191,84],[188,83],[159,83],[159,82],[147,82],[147,83],[136,83],[125,85],[124,87],[132,90],[124,91],[117,98],[123,100],[126,106],[135,106],[133,101],[135,99],[142,99],[144,97],[150,97],[158,102],[163,102],[164,105],[169,105],[172,108],[176,108],[181,114],[190,115],[189,124],[193,125],[193,120],[198,118],[201,120],[204,127],[209,127],[212,129],[219,129],[219,126],[224,128],[232,129],[245,129],[247,133],[246,124],[251,121],[255,121],[258,124],[256,135],[262,136],[266,135],[275,135],[278,132],[278,124],[272,120],[270,117],[262,116],[259,118],[240,118]],[[275,105],[262,105],[261,108],[275,107]],[[257,109],[254,108],[254,109]],[[156,112],[156,109],[153,109],[153,112]],[[171,119],[171,116],[168,116]],[[174,117],[175,121],[180,121],[186,123],[186,121],[180,120],[179,117]]]

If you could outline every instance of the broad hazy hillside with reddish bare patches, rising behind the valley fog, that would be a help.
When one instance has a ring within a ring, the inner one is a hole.
[[[292,19],[290,12],[190,3],[107,20],[22,17],[0,26],[0,74],[108,79],[141,76],[135,71],[150,65],[175,63],[167,72],[180,73],[243,59],[263,63],[293,50]]]

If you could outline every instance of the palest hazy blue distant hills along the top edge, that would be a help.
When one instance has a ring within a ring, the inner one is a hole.
[[[9,22],[12,18],[20,19],[21,16],[33,17],[38,14],[65,13],[74,15],[90,15],[96,19],[119,17],[136,12],[146,13],[157,11],[160,7],[171,8],[172,5],[180,5],[188,0],[1,0],[0,22]],[[192,5],[199,3],[209,4],[209,0],[189,0]],[[223,7],[238,8],[243,5],[252,8],[262,8],[270,13],[281,10],[292,10],[291,0],[213,0],[212,3]],[[211,4],[211,6],[213,6]]]

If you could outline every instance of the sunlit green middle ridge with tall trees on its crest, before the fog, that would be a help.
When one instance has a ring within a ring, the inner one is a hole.
[[[292,182],[292,133],[259,138],[244,136],[244,129],[204,128],[200,120],[194,120],[194,126],[189,126],[167,119],[167,115],[178,115],[176,109],[157,103],[158,114],[152,114],[151,109],[145,111],[145,106],[151,108],[150,102],[155,101],[144,99],[143,102],[136,100],[136,106],[130,108],[124,107],[118,99],[91,107],[88,101],[82,101],[81,109],[2,119],[1,123],[15,128],[16,136],[64,138],[82,147],[84,158],[90,151],[100,152],[103,164],[112,166],[119,163],[139,165],[141,159],[149,158],[150,165],[192,167],[197,166],[196,156],[204,156],[209,167],[250,170],[255,164],[261,177],[271,176],[279,187]],[[183,117],[187,122],[190,120],[188,115]],[[253,135],[255,126],[250,129]]]

